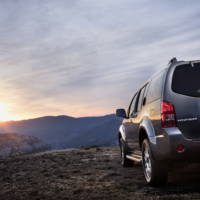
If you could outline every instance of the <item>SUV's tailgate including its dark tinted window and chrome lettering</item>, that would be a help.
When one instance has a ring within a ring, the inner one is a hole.
[[[189,139],[200,139],[200,63],[179,65],[172,76],[171,90],[177,126]]]

